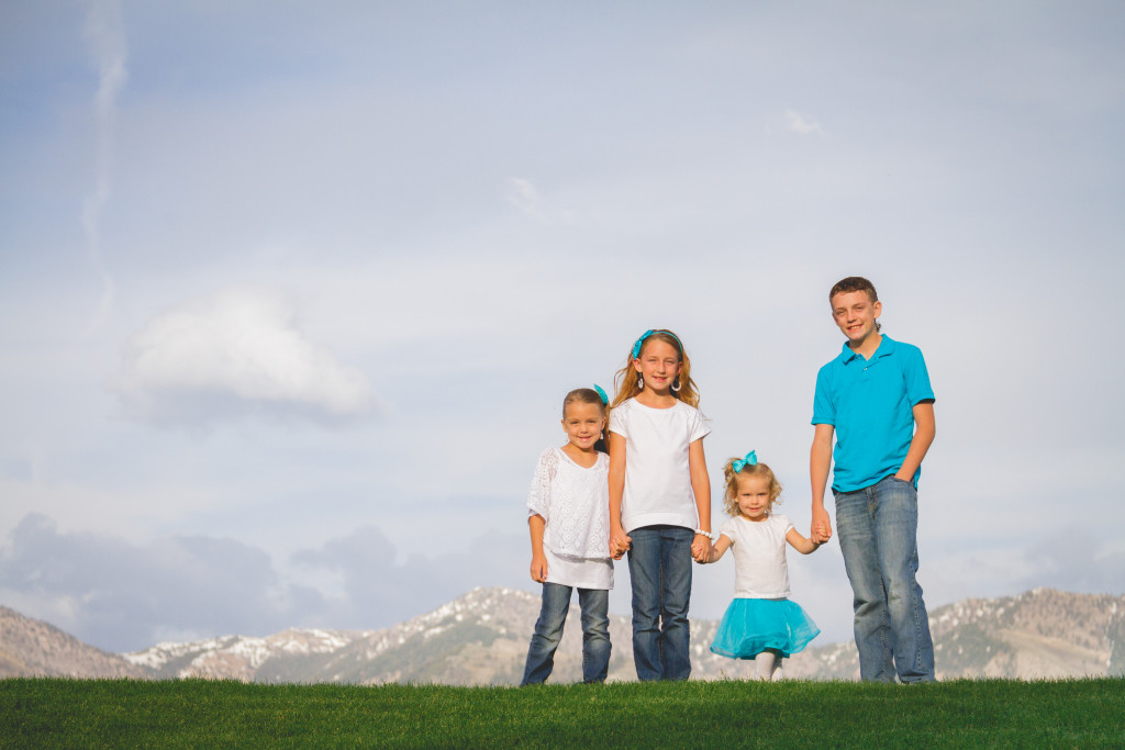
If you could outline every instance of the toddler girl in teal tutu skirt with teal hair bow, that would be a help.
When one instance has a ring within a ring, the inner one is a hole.
[[[731,459],[722,471],[727,513],[734,517],[722,524],[706,562],[735,548],[735,600],[722,616],[711,651],[731,659],[755,659],[759,679],[777,680],[781,660],[820,633],[804,609],[788,598],[785,542],[801,554],[819,544],[773,512],[781,484],[770,467],[758,463],[754,451],[745,459]]]

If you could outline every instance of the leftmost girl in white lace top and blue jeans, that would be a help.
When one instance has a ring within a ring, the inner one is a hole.
[[[596,389],[596,390],[595,390]],[[601,683],[610,665],[610,498],[605,454],[605,392],[578,388],[562,400],[567,442],[539,457],[528,497],[531,578],[543,585],[521,685],[546,680],[578,589],[583,681]]]

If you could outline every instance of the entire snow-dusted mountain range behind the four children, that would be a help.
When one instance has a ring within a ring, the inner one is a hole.
[[[582,627],[572,607],[551,681],[582,675]],[[290,629],[224,635],[109,653],[0,607],[0,677],[73,676],[258,683],[438,683],[514,685],[523,672],[539,597],[478,588],[407,622],[368,631]],[[740,679],[753,662],[712,654],[718,622],[692,621],[692,677]],[[1125,675],[1125,596],[1037,588],[1018,596],[964,599],[930,614],[939,679],[1043,679]],[[610,680],[636,678],[629,617],[613,615]],[[785,661],[802,679],[856,679],[855,644],[810,647]]]

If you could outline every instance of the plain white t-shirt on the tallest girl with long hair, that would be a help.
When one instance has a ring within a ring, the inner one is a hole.
[[[696,528],[687,446],[711,432],[700,410],[683,401],[654,409],[630,398],[610,413],[610,432],[626,439],[626,533],[657,524]]]

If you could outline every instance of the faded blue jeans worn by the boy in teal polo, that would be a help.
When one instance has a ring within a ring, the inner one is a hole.
[[[854,493],[835,493],[844,567],[855,596],[860,678],[934,679],[934,642],[918,572],[918,491],[886,477]]]

